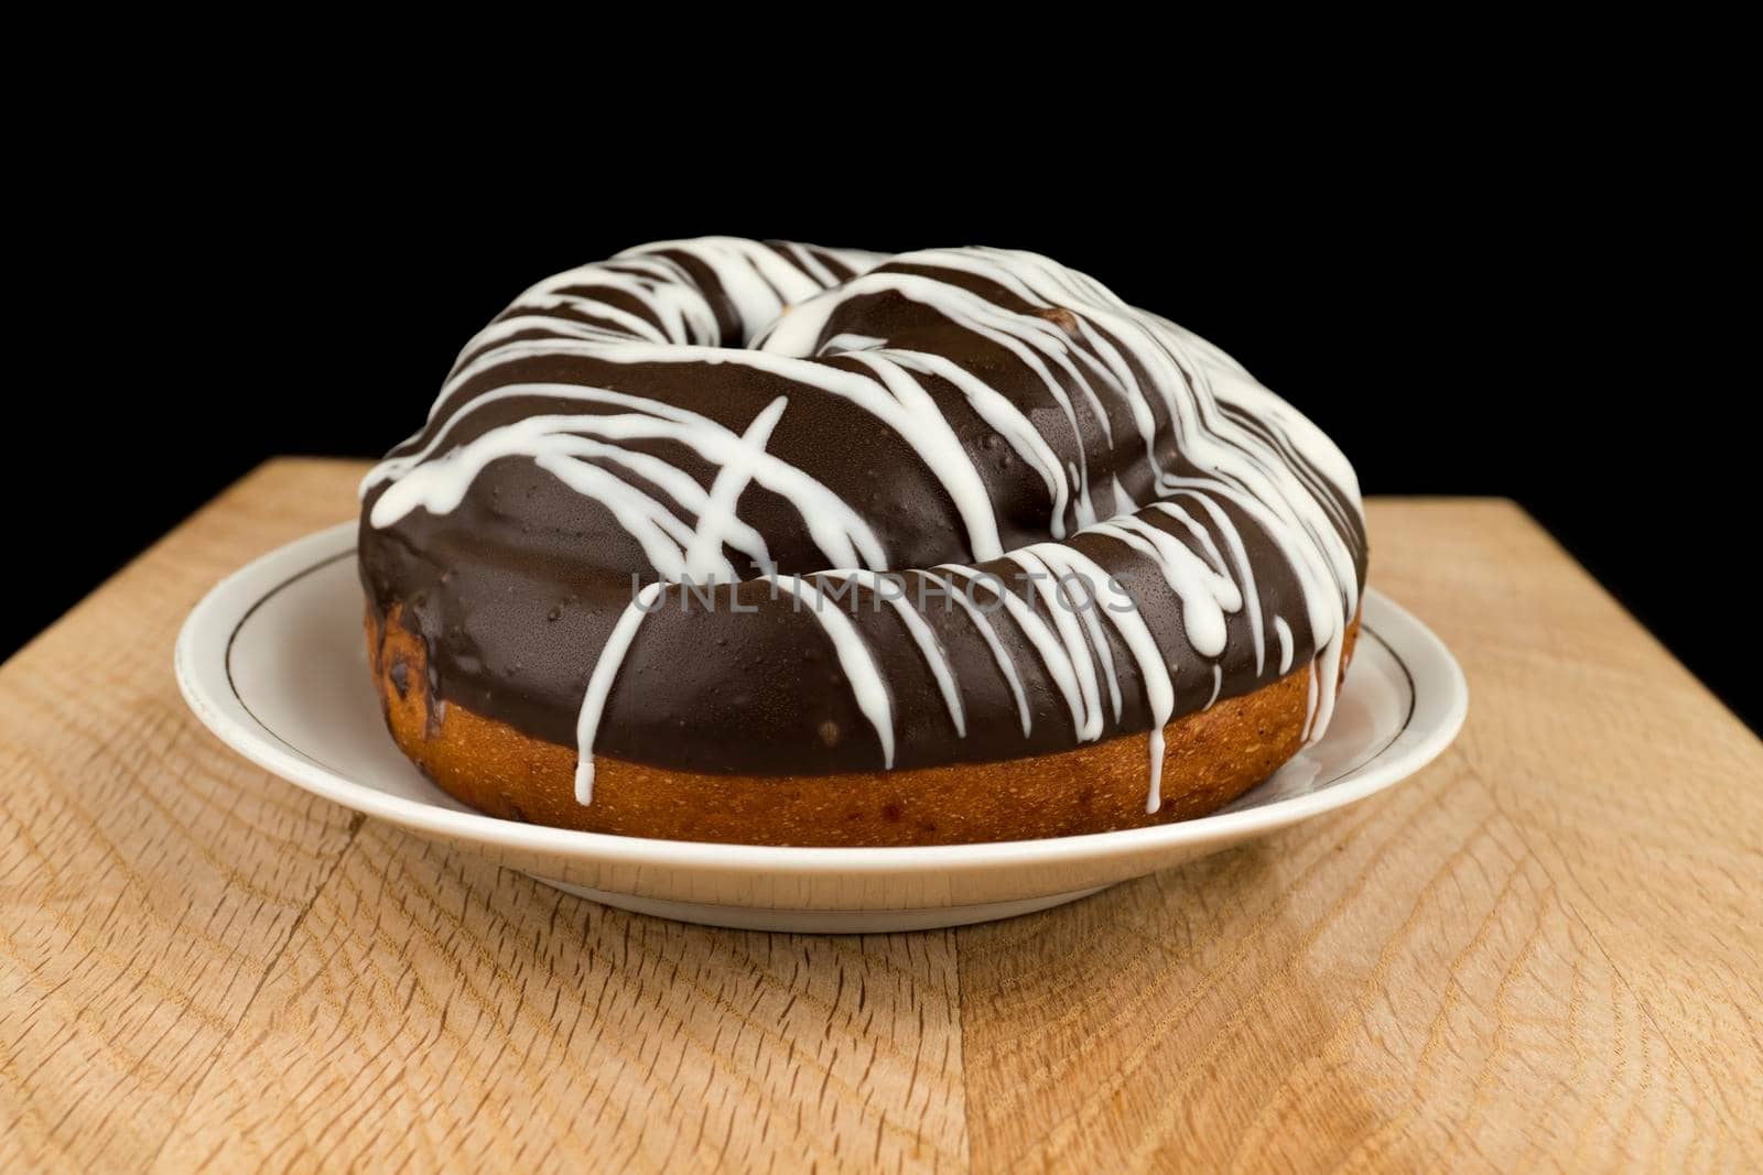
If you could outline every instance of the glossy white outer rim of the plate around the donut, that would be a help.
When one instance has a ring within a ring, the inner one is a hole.
[[[226,696],[217,698],[215,691],[210,691],[203,684],[199,676],[203,673],[203,659],[217,654],[219,676],[229,680],[231,645],[243,620],[279,587],[310,574],[324,562],[335,562],[337,557],[346,555],[354,544],[356,528],[358,521],[351,520],[293,539],[252,558],[215,583],[190,610],[178,631],[173,652],[178,691],[183,694],[183,701],[190,712],[196,713],[197,721],[215,738],[250,763],[303,791],[353,812],[386,819],[414,831],[495,849],[543,853],[608,865],[716,868],[770,876],[896,876],[901,872],[1019,868],[1093,861],[1098,858],[1178,849],[1211,840],[1239,840],[1358,803],[1425,770],[1456,740],[1469,713],[1469,682],[1463,676],[1463,668],[1446,643],[1410,611],[1375,587],[1366,587],[1363,606],[1384,613],[1379,627],[1386,629],[1386,636],[1380,636],[1380,639],[1396,654],[1396,661],[1405,666],[1410,678],[1414,678],[1414,668],[1396,652],[1398,641],[1387,638],[1389,627],[1402,631],[1400,634],[1405,638],[1400,641],[1402,645],[1419,645],[1444,669],[1437,689],[1430,689],[1425,696],[1419,682],[1412,682],[1414,715],[1410,717],[1410,724],[1417,721],[1423,710],[1437,713],[1428,715],[1432,721],[1426,733],[1400,759],[1379,765],[1377,757],[1373,757],[1370,763],[1356,768],[1361,772],[1356,779],[1329,784],[1301,796],[1275,800],[1273,803],[1246,810],[1213,812],[1151,828],[1123,828],[1038,840],[934,846],[836,847],[725,844],[716,840],[661,840],[654,837],[624,837],[573,828],[550,828],[547,824],[524,824],[481,812],[458,812],[420,800],[405,800],[353,780],[340,772],[317,766],[309,757],[298,756],[293,749],[284,749],[275,733],[263,726],[236,694],[231,699]],[[296,567],[298,562],[307,562],[309,565]],[[280,573],[282,565],[296,569]],[[277,576],[275,583],[259,585],[261,580],[272,574]],[[1393,625],[1386,625],[1382,620],[1389,620]],[[219,636],[220,632],[226,634],[224,639]],[[215,666],[210,662],[208,671],[213,669]],[[243,719],[231,713],[229,710],[233,708],[238,708]],[[250,724],[256,724],[263,733],[259,735]],[[1386,752],[1387,747],[1379,754]]]

